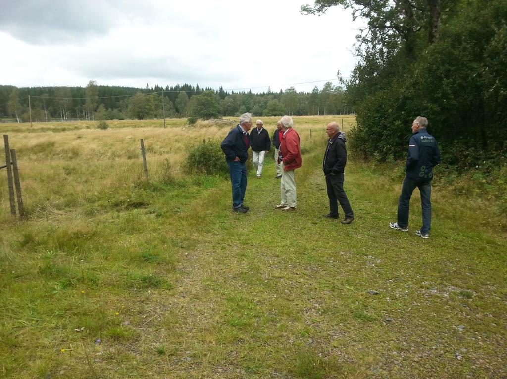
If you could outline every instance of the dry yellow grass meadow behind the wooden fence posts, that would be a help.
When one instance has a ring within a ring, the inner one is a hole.
[[[266,129],[273,133],[278,117],[262,118]],[[341,117],[295,117],[294,128],[302,139],[302,147],[324,135],[330,121]],[[354,123],[344,117],[345,130]],[[189,147],[203,139],[219,142],[237,122],[199,121],[194,126],[186,120],[109,121],[107,130],[96,129],[96,122],[6,124],[0,129],[9,135],[10,147],[16,149],[21,184],[28,208],[68,211],[73,204],[84,203],[90,196],[107,188],[118,188],[142,178],[140,139],[144,140],[151,179],[159,180],[170,162],[175,177],[186,175],[182,164]],[[312,138],[310,138],[310,133]],[[2,172],[3,174],[3,172]],[[73,199],[70,201],[70,199]],[[60,204],[60,205],[57,205]],[[0,209],[9,211],[6,175],[0,177]]]

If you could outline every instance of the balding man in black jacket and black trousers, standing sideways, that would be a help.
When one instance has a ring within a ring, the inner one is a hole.
[[[343,189],[345,179],[345,165],[347,164],[347,137],[340,132],[338,123],[329,123],[325,132],[328,133],[328,147],[325,149],[322,170],[325,175],[325,184],[328,187],[329,213],[324,217],[338,218],[338,202],[345,213],[342,224],[349,224],[354,220],[354,212],[350,207],[347,195]]]

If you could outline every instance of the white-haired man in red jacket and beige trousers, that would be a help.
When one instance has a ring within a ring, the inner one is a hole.
[[[282,202],[276,208],[282,211],[296,209],[296,176],[294,170],[301,167],[301,140],[299,134],[292,128],[294,121],[290,116],[283,116],[280,120],[283,134],[280,141],[278,163],[282,171],[280,194]]]

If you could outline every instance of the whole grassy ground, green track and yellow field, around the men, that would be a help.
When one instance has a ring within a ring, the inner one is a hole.
[[[271,134],[277,118],[263,120]],[[332,120],[295,118],[298,210],[274,209],[268,158],[244,215],[227,178],[182,168],[189,146],[233,124],[0,125],[28,213],[8,214],[0,171],[0,377],[507,376],[504,204],[437,171],[430,239],[414,235],[418,194],[409,233],[391,231],[403,164],[350,159],[356,219],[324,219]]]

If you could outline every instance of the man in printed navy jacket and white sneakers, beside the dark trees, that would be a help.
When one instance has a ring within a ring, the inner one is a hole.
[[[409,230],[410,198],[414,189],[419,188],[422,206],[422,227],[415,234],[424,239],[429,238],[431,229],[431,179],[432,168],[440,163],[440,150],[437,140],[428,134],[426,127],[428,120],[417,117],[412,123],[412,137],[409,141],[407,164],[405,165],[405,179],[402,194],[398,201],[398,217],[396,222],[390,222],[391,229],[407,232]]]

